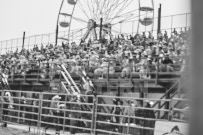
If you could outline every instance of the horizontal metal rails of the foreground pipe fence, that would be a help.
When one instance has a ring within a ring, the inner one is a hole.
[[[7,90],[4,90],[4,91],[7,91]],[[3,92],[4,92],[3,91]],[[8,91],[11,91],[11,92],[16,92],[14,90],[8,90]],[[17,93],[22,93],[21,91],[17,91]],[[23,93],[26,93],[23,91]],[[29,93],[29,92],[28,92]],[[33,92],[35,93],[35,92]],[[102,111],[99,111],[98,108],[99,107],[118,107],[118,106],[115,106],[113,104],[100,104],[98,102],[99,98],[109,98],[109,99],[113,99],[113,98],[116,98],[116,99],[120,99],[120,100],[130,100],[130,99],[133,99],[133,100],[140,100],[140,101],[159,101],[158,99],[148,99],[148,98],[134,98],[134,97],[116,97],[116,96],[105,96],[105,95],[98,95],[98,96],[89,96],[89,95],[84,95],[84,97],[92,97],[94,99],[94,101],[96,101],[96,103],[77,103],[77,102],[70,102],[70,101],[57,101],[59,104],[60,103],[63,103],[65,104],[65,108],[52,108],[52,107],[49,107],[49,106],[44,106],[43,103],[44,102],[47,102],[47,103],[51,103],[53,102],[52,100],[47,100],[47,99],[43,99],[43,97],[45,95],[63,95],[63,96],[74,96],[74,95],[69,95],[69,94],[59,94],[59,93],[46,93],[46,92],[41,92],[41,93],[38,93],[40,97],[42,98],[39,98],[39,99],[34,99],[33,98],[33,101],[39,101],[39,106],[33,106],[33,105],[27,105],[27,104],[21,104],[21,103],[13,103],[12,105],[16,106],[14,107],[14,109],[8,109],[8,108],[2,108],[3,110],[2,111],[8,111],[9,113],[8,114],[0,114],[1,117],[5,118],[5,117],[8,117],[8,118],[15,118],[13,120],[25,120],[25,121],[30,121],[30,122],[36,122],[35,124],[36,125],[39,125],[39,124],[47,124],[47,125],[52,125],[52,126],[60,126],[60,127],[68,127],[68,128],[74,128],[74,129],[81,129],[81,130],[86,130],[86,131],[92,131],[92,124],[101,124],[101,125],[105,125],[105,126],[108,126],[110,129],[117,126],[117,127],[121,127],[121,128],[130,128],[132,130],[150,130],[150,131],[154,131],[154,127],[151,127],[151,126],[144,126],[144,125],[136,125],[135,123],[134,124],[130,124],[129,123],[129,119],[132,119],[134,122],[136,121],[142,121],[142,122],[147,122],[147,121],[151,121],[151,122],[156,122],[156,121],[160,121],[162,119],[158,119],[157,117],[155,118],[146,118],[145,116],[137,116],[136,114],[134,115],[127,115],[124,113],[124,108],[128,109],[129,106],[126,106],[126,105],[122,105],[120,106],[122,108],[122,113],[121,114],[113,114],[113,113],[104,113]],[[81,95],[82,96],[82,95]],[[2,98],[5,98],[6,96],[2,96]],[[21,97],[13,97],[14,99],[18,99],[19,100],[22,100]],[[32,98],[23,98],[24,100],[32,100]],[[177,100],[177,99],[175,99]],[[160,99],[160,101],[162,102],[173,102],[174,100],[173,99]],[[4,105],[4,104],[7,104],[9,105],[9,103],[7,102],[2,102],[1,105]],[[68,109],[69,108],[69,105],[79,105],[79,106],[83,106],[83,105],[87,105],[87,106],[92,106],[92,108],[95,108],[95,109],[91,109],[90,111],[83,111],[83,110],[80,110],[80,109]],[[20,110],[20,107],[23,106],[25,107],[24,110]],[[38,112],[30,112],[27,108],[35,108],[35,109],[38,109],[37,111]],[[19,110],[16,110],[16,108],[19,108]],[[96,109],[97,108],[97,109]],[[152,111],[152,112],[155,112],[155,111],[159,111],[159,112],[167,112],[168,115],[170,114],[173,114],[174,111],[184,111],[183,109],[176,109],[176,108],[172,108],[172,109],[156,109],[156,108],[146,108],[146,107],[131,107],[132,109],[134,109],[135,111],[137,110],[142,110],[142,111]],[[58,113],[54,114],[54,115],[50,115],[49,114],[49,111],[48,112],[43,112],[42,110],[52,110],[54,112],[58,111]],[[16,112],[16,113],[13,113],[13,112]],[[18,114],[18,116],[14,116]],[[22,116],[20,116],[19,114],[24,114]],[[96,119],[95,121],[93,121],[93,115],[95,114],[96,116]],[[78,115],[78,117],[74,117]],[[37,116],[38,120],[36,119],[33,119],[33,116]],[[30,118],[32,117],[32,118]],[[102,119],[99,119],[99,118],[103,118]],[[109,118],[113,118],[113,117],[117,117],[119,118],[120,120],[122,120],[120,123],[115,123],[115,122],[112,122],[112,121],[108,121]],[[51,122],[47,122],[45,121],[45,118],[52,118],[50,119]],[[105,119],[107,118],[107,119]],[[54,122],[54,119],[56,120],[62,120],[63,121],[63,124],[61,123],[56,123]],[[123,121],[124,120],[124,121]],[[76,125],[71,125],[71,124],[65,124],[64,123],[67,122],[67,121],[78,121],[78,122],[85,122],[86,123],[86,126],[85,127],[78,127]],[[128,122],[127,122],[128,121]],[[177,119],[175,118],[172,118],[172,121],[178,121]],[[180,120],[181,121],[181,120]],[[179,121],[179,122],[180,122]],[[4,119],[4,122],[8,122],[9,123],[9,120],[7,119]],[[14,122],[15,123],[15,122]],[[41,128],[41,126],[39,126],[38,128]],[[100,133],[112,133],[112,134],[123,134],[123,133],[118,133],[118,132],[114,132],[114,131],[111,131],[111,130],[105,130],[105,129],[102,129],[102,126],[97,126],[95,127],[93,130],[95,130],[96,132],[100,132]]]

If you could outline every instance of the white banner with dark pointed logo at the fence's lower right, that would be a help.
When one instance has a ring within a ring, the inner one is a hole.
[[[188,124],[156,121],[154,135],[188,135]]]

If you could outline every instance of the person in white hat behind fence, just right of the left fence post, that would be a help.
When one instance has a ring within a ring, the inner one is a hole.
[[[53,122],[56,124],[59,124],[59,119],[57,118],[60,111],[59,111],[59,101],[60,101],[61,97],[59,97],[59,95],[56,95],[52,98],[51,101],[51,105],[50,107],[52,109],[49,110],[50,115],[54,116],[53,118]],[[56,125],[56,134],[60,134],[60,127]]]

